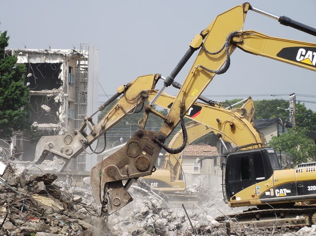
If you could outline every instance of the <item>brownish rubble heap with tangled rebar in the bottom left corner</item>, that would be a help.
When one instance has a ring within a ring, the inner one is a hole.
[[[96,209],[62,192],[55,174],[16,175],[8,166],[0,178],[0,235],[85,235]]]

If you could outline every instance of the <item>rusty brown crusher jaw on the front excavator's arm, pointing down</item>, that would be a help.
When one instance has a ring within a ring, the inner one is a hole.
[[[133,179],[152,173],[161,150],[158,143],[154,142],[157,135],[140,129],[124,147],[92,167],[91,191],[97,205],[106,215],[132,201],[127,190]],[[123,185],[122,181],[125,180],[127,182]]]

